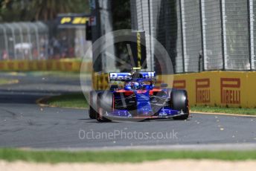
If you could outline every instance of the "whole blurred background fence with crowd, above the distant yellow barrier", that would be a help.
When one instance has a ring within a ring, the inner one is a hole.
[[[85,27],[60,28],[54,21],[1,23],[0,60],[82,59],[92,45]]]

